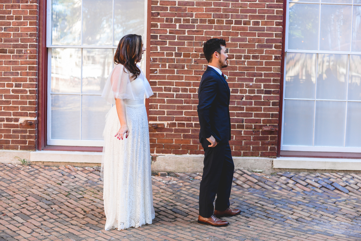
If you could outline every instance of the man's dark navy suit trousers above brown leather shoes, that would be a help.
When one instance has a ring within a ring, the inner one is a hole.
[[[230,205],[234,163],[228,142],[208,147],[210,142],[203,138],[201,144],[204,149],[204,168],[199,188],[199,215],[209,218],[214,208],[217,211],[224,211]]]

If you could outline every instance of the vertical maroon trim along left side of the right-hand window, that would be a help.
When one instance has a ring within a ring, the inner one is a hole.
[[[282,53],[281,53],[281,77],[279,81],[279,112],[278,112],[278,133],[277,133],[277,157],[280,157],[282,138],[282,109],[283,109],[283,82],[284,82],[284,50],[286,46],[286,14],[287,1],[283,1],[283,22],[282,22]]]

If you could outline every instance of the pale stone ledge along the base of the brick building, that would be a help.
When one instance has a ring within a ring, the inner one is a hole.
[[[0,163],[20,164],[26,159],[35,165],[100,166],[101,152],[0,150]],[[203,172],[204,155],[157,155],[152,157],[152,172]],[[361,171],[361,159],[306,157],[233,157],[234,166],[252,172],[271,174],[279,170]]]

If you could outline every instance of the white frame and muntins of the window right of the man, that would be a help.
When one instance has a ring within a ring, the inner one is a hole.
[[[361,147],[345,147],[346,142],[346,125],[347,125],[347,104],[348,102],[361,102],[357,100],[348,100],[348,85],[349,85],[349,59],[350,55],[361,55],[361,52],[351,52],[352,49],[352,31],[353,31],[353,6],[354,5],[360,5],[360,4],[354,4],[354,0],[352,0],[352,3],[322,3],[321,0],[319,2],[299,2],[295,1],[292,2],[290,0],[286,1],[286,31],[285,31],[285,43],[284,43],[284,68],[283,68],[283,105],[282,105],[282,116],[284,117],[284,103],[285,100],[312,100],[314,101],[314,114],[313,114],[313,137],[312,137],[312,146],[303,146],[303,145],[284,145],[283,144],[283,131],[284,131],[284,118],[282,118],[282,129],[281,129],[281,147],[280,150],[283,151],[303,151],[303,152],[352,152],[352,153],[361,153]],[[318,22],[318,49],[320,45],[320,34],[321,34],[321,5],[352,5],[352,18],[351,18],[351,41],[350,41],[350,51],[320,51],[320,50],[299,50],[299,49],[288,49],[288,27],[289,27],[289,4],[295,3],[295,4],[318,4],[320,6],[319,8],[319,22]],[[286,56],[287,53],[315,53],[316,54],[316,74],[318,73],[318,54],[348,54],[347,57],[347,92],[346,92],[346,100],[326,100],[326,99],[317,99],[316,98],[316,88],[317,88],[317,77],[316,77],[316,83],[315,83],[315,98],[308,99],[308,98],[285,98],[286,93]],[[342,101],[346,102],[346,110],[345,110],[345,126],[344,126],[344,146],[314,146],[314,133],[315,133],[315,119],[316,119],[316,101]]]

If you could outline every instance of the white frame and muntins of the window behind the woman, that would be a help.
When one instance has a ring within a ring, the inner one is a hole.
[[[56,95],[77,95],[80,96],[80,101],[82,104],[82,96],[83,95],[91,95],[91,96],[101,96],[101,94],[96,93],[52,93],[51,92],[51,50],[52,48],[80,48],[81,49],[81,66],[83,66],[83,49],[112,49],[112,56],[114,56],[115,50],[117,49],[117,45],[114,45],[114,0],[113,0],[113,27],[112,27],[112,45],[83,45],[83,11],[81,13],[81,45],[52,45],[52,0],[47,0],[47,35],[46,35],[46,43],[47,43],[47,51],[48,51],[48,75],[47,75],[47,145],[57,145],[57,146],[98,146],[102,147],[104,145],[104,140],[82,140],[81,131],[82,131],[82,111],[80,111],[80,139],[79,140],[71,140],[71,139],[52,139],[51,138],[51,94]],[[83,9],[83,1],[81,5],[81,9]],[[143,44],[147,46],[147,21],[148,21],[148,0],[144,0],[144,38]],[[117,43],[116,43],[117,44]],[[146,52],[144,52],[143,60],[147,60]],[[143,61],[142,61],[143,62]],[[113,63],[114,66],[114,63]],[[142,63],[142,69],[145,69],[145,61]],[[81,71],[81,81],[82,81],[82,71]],[[81,105],[82,106],[82,105]]]

